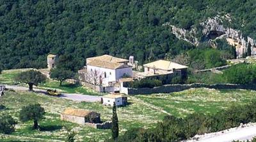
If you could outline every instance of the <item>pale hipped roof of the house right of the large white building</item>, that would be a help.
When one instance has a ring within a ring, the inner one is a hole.
[[[173,63],[172,61],[165,61],[163,59],[160,59],[158,61],[153,61],[151,63],[147,63],[143,66],[149,67],[149,68],[161,69],[161,70],[172,70],[173,68],[179,70],[182,68],[188,68],[187,66],[180,65],[178,63]]]

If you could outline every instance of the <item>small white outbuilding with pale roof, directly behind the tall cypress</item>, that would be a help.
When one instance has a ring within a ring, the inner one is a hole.
[[[104,95],[102,97],[101,101],[102,101],[102,104],[104,104],[106,106],[113,106],[114,102],[115,102],[116,106],[125,106],[128,104],[127,97],[125,97],[124,95],[120,95],[120,94]]]

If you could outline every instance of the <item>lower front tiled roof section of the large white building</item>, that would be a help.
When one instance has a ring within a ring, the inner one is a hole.
[[[117,68],[127,68],[131,67],[129,65],[125,65],[124,63],[115,63],[111,61],[100,61],[94,59],[87,63],[87,65],[95,66],[95,67],[102,67],[102,68],[109,68],[109,69],[117,69]]]

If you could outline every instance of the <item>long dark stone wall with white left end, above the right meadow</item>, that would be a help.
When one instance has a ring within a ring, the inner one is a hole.
[[[253,84],[168,84],[155,88],[122,88],[122,93],[127,95],[143,95],[152,93],[172,93],[175,91],[188,90],[190,88],[212,88],[218,90],[225,89],[245,89],[245,90],[256,90],[256,86]]]

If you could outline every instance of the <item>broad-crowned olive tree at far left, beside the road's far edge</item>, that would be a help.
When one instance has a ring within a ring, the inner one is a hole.
[[[46,81],[45,75],[43,75],[38,70],[21,72],[19,75],[17,75],[16,79],[20,83],[28,84],[29,91],[33,91],[33,85],[38,85],[39,83],[44,83]]]

